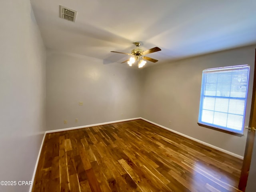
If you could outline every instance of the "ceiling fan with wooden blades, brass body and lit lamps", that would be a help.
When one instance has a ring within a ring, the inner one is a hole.
[[[158,62],[158,60],[147,57],[147,56],[144,56],[144,55],[154,53],[154,52],[157,52],[157,51],[161,51],[161,49],[159,47],[154,47],[154,48],[151,48],[151,49],[148,49],[148,50],[144,51],[144,50],[139,48],[140,42],[134,42],[134,44],[137,46],[137,48],[133,49],[131,53],[123,53],[123,52],[118,52],[118,51],[110,51],[110,52],[132,55],[132,57],[130,59],[125,60],[124,62],[122,62],[122,63],[127,62],[129,64],[129,66],[132,66],[132,64],[134,64],[135,61],[138,61],[138,67],[139,68],[142,68],[146,64],[145,60],[148,60],[148,61],[154,62],[154,63]]]

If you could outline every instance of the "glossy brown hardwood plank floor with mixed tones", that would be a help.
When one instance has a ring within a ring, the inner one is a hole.
[[[133,120],[46,134],[33,192],[236,192],[242,160]]]

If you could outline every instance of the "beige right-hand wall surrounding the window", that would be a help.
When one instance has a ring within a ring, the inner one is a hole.
[[[250,65],[245,126],[249,122],[256,46],[152,66],[143,70],[142,117],[187,136],[244,155],[247,130],[238,137],[198,126],[202,70]],[[169,124],[171,121],[171,124]]]

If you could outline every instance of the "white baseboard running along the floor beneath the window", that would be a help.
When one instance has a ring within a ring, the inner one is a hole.
[[[227,150],[224,150],[224,149],[222,149],[222,148],[216,147],[216,146],[211,145],[211,144],[209,144],[209,143],[206,143],[206,142],[203,142],[203,141],[201,141],[201,140],[195,139],[195,138],[193,138],[193,137],[187,136],[187,135],[185,135],[185,134],[183,134],[183,133],[180,133],[180,132],[178,132],[178,131],[172,130],[172,129],[167,128],[167,127],[165,127],[165,126],[159,125],[159,124],[154,123],[154,122],[152,122],[152,121],[150,121],[150,120],[147,120],[147,119],[144,119],[144,118],[141,118],[141,119],[144,120],[144,121],[147,121],[147,122],[149,122],[149,123],[152,123],[152,124],[154,124],[154,125],[156,125],[156,126],[158,126],[158,127],[164,128],[164,129],[166,129],[166,130],[168,130],[168,131],[174,132],[174,133],[176,133],[176,134],[179,134],[179,135],[181,135],[181,136],[184,136],[184,137],[186,137],[186,138],[189,138],[189,139],[191,139],[191,140],[194,140],[194,141],[196,141],[196,142],[198,142],[198,143],[204,144],[204,145],[206,145],[206,146],[208,146],[208,147],[211,147],[211,148],[214,148],[214,149],[219,150],[219,151],[221,151],[221,152],[224,152],[224,153],[226,153],[226,154],[232,155],[232,156],[237,157],[237,158],[239,158],[239,159],[244,159],[243,156],[240,156],[240,155],[238,155],[238,154],[232,153],[232,152],[230,152],[230,151],[227,151]]]

